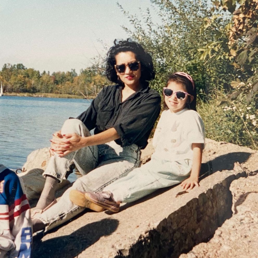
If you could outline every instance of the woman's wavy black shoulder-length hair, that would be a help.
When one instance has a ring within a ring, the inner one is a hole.
[[[125,41],[114,40],[114,46],[108,50],[106,59],[106,76],[107,78],[117,84],[122,85],[122,81],[118,79],[117,71],[115,70],[115,56],[120,52],[131,51],[135,54],[137,61],[141,62],[141,83],[147,83],[155,78],[155,71],[153,68],[152,57],[143,47],[128,38]]]

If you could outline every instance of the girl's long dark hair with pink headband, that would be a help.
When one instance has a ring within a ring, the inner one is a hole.
[[[193,101],[191,103],[189,101],[189,96],[187,96],[188,101],[186,103],[186,107],[196,111],[196,96],[197,96],[197,94],[196,94],[196,88],[195,88],[195,86],[193,87],[192,82],[188,78],[186,78],[185,76],[179,75],[179,74],[169,74],[167,76],[167,85],[171,81],[181,83],[182,85],[185,86],[186,92],[193,96]],[[163,99],[163,108],[164,108],[164,110],[168,109],[168,107],[166,105],[166,102],[165,102],[165,96],[164,96],[164,99]]]

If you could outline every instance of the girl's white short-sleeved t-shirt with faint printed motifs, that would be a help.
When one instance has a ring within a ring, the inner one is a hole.
[[[162,112],[154,136],[152,157],[177,161],[193,159],[192,143],[205,144],[204,124],[200,115],[191,109],[172,113]]]

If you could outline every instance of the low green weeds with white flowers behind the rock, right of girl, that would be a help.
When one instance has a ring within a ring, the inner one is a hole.
[[[207,102],[198,99],[197,111],[203,119],[206,137],[257,150],[258,129],[249,119],[253,113],[247,105],[240,109],[233,101],[229,106],[221,104],[225,99],[226,95],[218,91]]]

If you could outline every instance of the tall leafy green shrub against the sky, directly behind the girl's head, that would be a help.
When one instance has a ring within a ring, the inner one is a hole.
[[[152,54],[157,72],[153,88],[161,93],[166,74],[176,71],[190,73],[198,92],[208,92],[217,86],[223,78],[218,74],[222,70],[227,74],[229,66],[225,66],[222,60],[207,64],[200,60],[198,52],[205,42],[215,41],[217,31],[202,30],[202,25],[204,18],[212,18],[216,9],[202,0],[151,0],[151,3],[153,7],[146,10],[141,20],[130,15],[121,5],[119,7],[132,25],[132,29],[125,26],[124,29]],[[158,24],[153,22],[151,11],[158,15]],[[227,20],[222,19],[221,23],[226,24]]]

